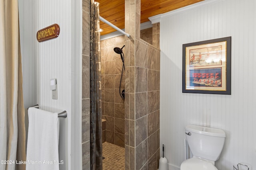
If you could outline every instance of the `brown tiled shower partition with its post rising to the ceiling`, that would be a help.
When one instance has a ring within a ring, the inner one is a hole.
[[[160,49],[157,30],[160,25],[153,25],[151,42],[145,35],[139,35],[143,32],[138,31],[138,4],[140,0],[125,0],[125,11],[129,11],[125,16],[125,30],[130,34],[125,39],[125,169],[157,170],[160,158]]]

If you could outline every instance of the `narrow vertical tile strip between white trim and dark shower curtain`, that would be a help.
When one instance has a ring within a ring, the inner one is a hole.
[[[82,169],[90,169],[90,0],[82,0]]]

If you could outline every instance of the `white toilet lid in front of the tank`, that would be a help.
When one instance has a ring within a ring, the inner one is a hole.
[[[184,160],[180,165],[180,170],[218,170],[212,163],[200,158],[190,158]]]

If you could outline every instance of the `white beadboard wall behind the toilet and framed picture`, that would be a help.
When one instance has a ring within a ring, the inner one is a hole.
[[[190,123],[226,132],[215,164],[219,170],[231,170],[238,162],[256,169],[255,8],[255,0],[223,0],[162,15],[160,145],[166,146],[169,170],[179,170],[185,159],[184,127]],[[182,93],[182,44],[229,36],[232,94]]]

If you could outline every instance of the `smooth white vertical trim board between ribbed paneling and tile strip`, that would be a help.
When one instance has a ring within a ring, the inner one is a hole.
[[[69,170],[82,169],[82,1],[71,1],[71,160]]]

